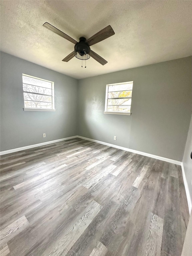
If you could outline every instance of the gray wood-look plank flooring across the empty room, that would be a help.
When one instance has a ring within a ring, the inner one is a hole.
[[[1,256],[181,256],[188,219],[176,164],[79,138],[1,157]]]

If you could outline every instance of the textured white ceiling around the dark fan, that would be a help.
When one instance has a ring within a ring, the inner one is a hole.
[[[74,44],[111,25],[115,35],[91,46],[108,63],[61,60]],[[192,1],[1,0],[1,50],[77,79],[192,55]]]

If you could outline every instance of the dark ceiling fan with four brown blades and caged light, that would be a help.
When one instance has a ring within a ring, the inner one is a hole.
[[[83,58],[84,59],[89,59],[90,56],[91,56],[93,59],[95,59],[96,61],[98,61],[102,65],[105,65],[107,63],[107,61],[105,59],[103,59],[97,53],[92,51],[90,49],[90,46],[94,45],[94,44],[97,44],[97,43],[103,41],[104,39],[106,39],[106,38],[108,38],[112,35],[115,35],[115,32],[113,31],[113,29],[110,25],[107,26],[106,28],[100,30],[98,33],[91,36],[89,39],[86,39],[84,37],[80,37],[79,42],[77,42],[76,40],[74,40],[70,36],[63,33],[61,30],[55,28],[54,26],[52,26],[51,24],[49,24],[47,22],[44,23],[43,26],[45,28],[51,30],[55,34],[60,35],[61,37],[67,39],[71,43],[75,44],[74,51],[72,53],[70,53],[69,55],[67,55],[67,57],[65,57],[62,61],[68,62],[74,56],[78,59],[83,59]],[[88,57],[88,55],[89,55],[89,57]]]

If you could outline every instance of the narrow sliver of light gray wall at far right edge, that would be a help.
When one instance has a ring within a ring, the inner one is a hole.
[[[187,136],[187,142],[185,145],[185,151],[183,155],[183,167],[185,171],[187,185],[189,188],[190,197],[192,200],[192,159],[190,158],[191,151],[192,151],[192,116],[191,116],[189,132]]]

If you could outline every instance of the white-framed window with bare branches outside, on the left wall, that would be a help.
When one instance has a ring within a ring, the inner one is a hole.
[[[55,111],[54,83],[22,74],[24,110]]]

